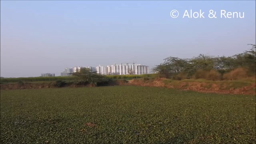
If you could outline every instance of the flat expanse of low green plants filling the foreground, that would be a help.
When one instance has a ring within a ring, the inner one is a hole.
[[[255,96],[105,86],[1,90],[4,144],[254,144]]]

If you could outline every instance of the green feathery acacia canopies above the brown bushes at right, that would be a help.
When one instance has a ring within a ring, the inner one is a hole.
[[[187,78],[191,78],[198,70],[209,72],[210,70],[217,70],[221,74],[234,70],[235,68],[246,68],[251,74],[256,73],[256,45],[241,54],[234,56],[207,56],[200,54],[191,59],[181,59],[176,57],[168,57],[164,59],[162,64],[156,65],[152,70],[170,78],[180,72],[186,74]]]

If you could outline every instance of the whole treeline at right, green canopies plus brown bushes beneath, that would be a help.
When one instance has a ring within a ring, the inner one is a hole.
[[[208,56],[200,54],[190,59],[168,57],[153,68],[160,77],[207,80],[238,80],[254,77],[256,73],[256,45],[234,56]]]

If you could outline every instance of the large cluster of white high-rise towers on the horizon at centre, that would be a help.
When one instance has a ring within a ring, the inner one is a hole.
[[[74,72],[79,72],[81,68],[90,68],[92,72],[97,72],[98,74],[103,75],[131,75],[131,74],[149,74],[149,66],[140,65],[140,64],[113,64],[110,66],[88,66],[88,67],[74,67],[74,68],[65,68],[64,72],[61,72],[61,76],[70,76]]]

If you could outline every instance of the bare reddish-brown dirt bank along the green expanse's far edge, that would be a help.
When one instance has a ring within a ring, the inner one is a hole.
[[[197,82],[197,81],[174,81],[165,82],[166,79],[154,79],[154,80],[116,80],[109,85],[135,85],[135,86],[153,86],[153,87],[164,87],[174,88],[179,90],[193,90],[198,92],[208,93],[220,93],[220,94],[256,94],[256,84],[250,83],[240,86],[234,86],[236,82]],[[233,85],[232,85],[233,84]],[[84,85],[69,85],[64,87],[93,87],[95,85],[88,84]],[[9,89],[29,89],[29,88],[58,88],[54,82],[35,82],[35,83],[12,83],[12,84],[1,84],[1,90]]]

